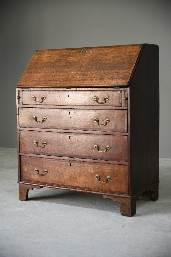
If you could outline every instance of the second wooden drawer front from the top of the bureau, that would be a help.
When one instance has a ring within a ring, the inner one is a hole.
[[[33,119],[33,116],[36,118]],[[46,120],[43,120],[46,117]],[[96,118],[97,122],[94,122]],[[105,120],[107,122],[105,122]],[[36,122],[37,121],[37,122]],[[42,123],[38,123],[42,122]],[[98,125],[105,126],[98,126]],[[127,132],[127,110],[19,108],[19,126]]]

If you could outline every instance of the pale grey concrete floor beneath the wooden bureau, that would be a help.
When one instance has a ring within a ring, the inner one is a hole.
[[[140,198],[136,215],[100,195],[29,190],[18,200],[17,149],[0,148],[0,257],[171,256],[171,159],[160,159],[159,199]]]

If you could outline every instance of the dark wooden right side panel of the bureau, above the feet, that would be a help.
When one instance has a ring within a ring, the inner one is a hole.
[[[138,86],[137,86],[138,85]],[[129,101],[128,101],[129,103]],[[158,45],[146,44],[130,85],[131,194],[158,182]],[[129,120],[129,117],[128,117]]]

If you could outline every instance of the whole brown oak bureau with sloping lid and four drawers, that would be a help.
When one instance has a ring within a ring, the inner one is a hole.
[[[35,51],[17,85],[19,199],[51,187],[136,213],[158,199],[158,46]]]

